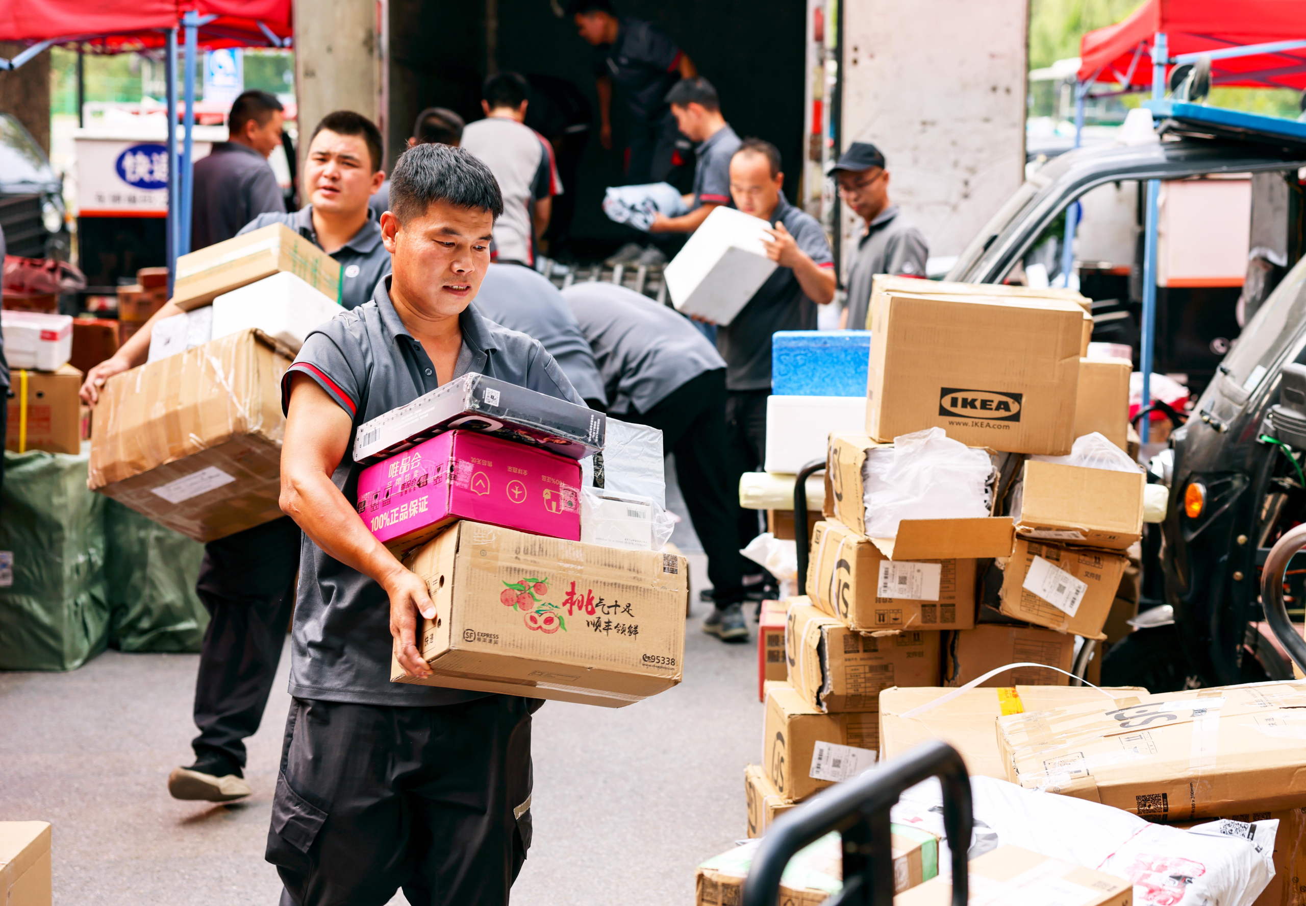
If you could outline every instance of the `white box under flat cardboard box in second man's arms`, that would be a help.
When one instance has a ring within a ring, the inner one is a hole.
[[[341,309],[334,299],[285,271],[213,299],[213,339],[257,327],[294,350]]]

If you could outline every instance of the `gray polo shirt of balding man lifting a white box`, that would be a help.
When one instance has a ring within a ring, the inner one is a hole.
[[[818,265],[835,267],[825,230],[784,195],[771,214],[771,225],[777,221]],[[793,268],[776,268],[748,305],[729,324],[717,327],[717,350],[726,360],[726,390],[771,390],[771,335],[815,329],[816,303],[803,293]]]

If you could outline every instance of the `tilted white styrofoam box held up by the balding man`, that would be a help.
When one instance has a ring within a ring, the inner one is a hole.
[[[724,205],[708,214],[662,272],[677,311],[729,324],[776,269],[767,258],[768,226]]]

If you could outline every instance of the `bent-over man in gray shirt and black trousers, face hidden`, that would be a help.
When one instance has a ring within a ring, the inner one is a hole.
[[[609,411],[662,431],[693,531],[708,554],[713,612],[707,633],[748,638],[743,620],[744,561],[735,540],[739,476],[726,455],[726,363],[683,315],[607,282],[563,290],[603,375]]]

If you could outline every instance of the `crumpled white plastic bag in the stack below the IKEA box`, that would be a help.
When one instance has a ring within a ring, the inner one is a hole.
[[[990,515],[993,460],[951,439],[942,428],[893,438],[867,451],[862,465],[868,537],[897,537],[902,519]]]

